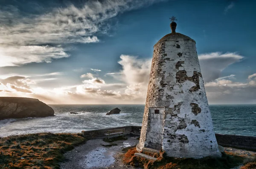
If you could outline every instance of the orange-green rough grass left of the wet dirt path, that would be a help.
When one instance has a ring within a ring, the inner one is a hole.
[[[59,169],[63,154],[84,143],[80,134],[37,133],[0,138],[0,169]]]

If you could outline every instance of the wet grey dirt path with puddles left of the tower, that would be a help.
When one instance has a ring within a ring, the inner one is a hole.
[[[113,142],[116,146],[102,146],[108,144],[103,139],[88,140],[64,154],[67,160],[60,163],[61,169],[135,169],[124,165],[122,159],[114,158],[124,153],[123,148],[135,146],[139,142],[136,137],[125,137],[128,140]]]

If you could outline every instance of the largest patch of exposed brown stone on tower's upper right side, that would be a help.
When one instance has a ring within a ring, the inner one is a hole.
[[[179,62],[183,62],[183,61],[179,61]],[[176,63],[176,69],[177,69],[177,64],[181,64],[177,62]],[[183,62],[184,63],[184,62]],[[200,72],[193,72],[193,76],[192,77],[188,77],[186,75],[186,71],[185,70],[180,70],[179,72],[176,73],[176,82],[177,83],[183,83],[186,80],[189,80],[191,82],[195,83],[195,86],[193,86],[191,89],[189,89],[189,92],[195,92],[198,91],[198,89],[200,89],[200,85],[199,85],[199,77],[202,77],[202,74]]]

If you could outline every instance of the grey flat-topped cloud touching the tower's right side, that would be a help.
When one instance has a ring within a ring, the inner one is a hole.
[[[212,52],[198,56],[204,83],[218,79],[227,66],[241,61],[244,57],[236,52]]]

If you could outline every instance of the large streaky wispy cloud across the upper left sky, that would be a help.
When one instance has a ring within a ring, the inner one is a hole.
[[[119,13],[161,0],[90,0],[60,4],[40,14],[20,11],[18,6],[0,7],[0,67],[51,62],[69,57],[61,44],[96,43],[96,34],[107,34],[111,18]]]

